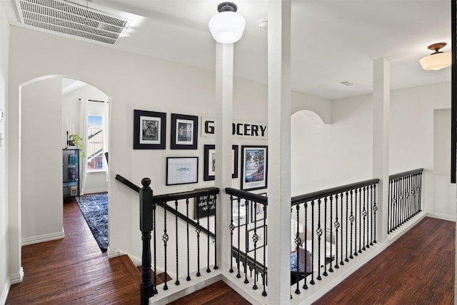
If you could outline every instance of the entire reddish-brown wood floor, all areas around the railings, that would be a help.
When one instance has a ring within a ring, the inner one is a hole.
[[[64,204],[65,238],[22,248],[24,281],[6,304],[139,304],[139,271],[108,259],[76,202]],[[315,304],[453,304],[455,224],[426,218]],[[171,304],[249,304],[219,281]]]

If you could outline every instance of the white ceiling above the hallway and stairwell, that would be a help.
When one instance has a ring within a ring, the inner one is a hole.
[[[9,21],[19,23],[14,0]],[[86,5],[86,1],[74,0]],[[208,21],[216,0],[92,0],[89,7],[131,20],[115,47],[138,54],[215,69],[216,42]],[[246,19],[235,44],[234,74],[267,81],[267,0],[233,0]],[[423,71],[418,60],[429,44],[451,51],[451,0],[292,0],[291,81],[294,91],[324,99],[368,94],[373,60],[391,62],[391,89],[451,81],[451,68]],[[75,38],[77,39],[77,38]],[[98,43],[100,44],[100,43]],[[343,86],[352,81],[355,86]]]

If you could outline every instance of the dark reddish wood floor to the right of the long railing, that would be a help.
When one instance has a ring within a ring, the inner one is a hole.
[[[455,230],[423,219],[314,304],[454,304]]]

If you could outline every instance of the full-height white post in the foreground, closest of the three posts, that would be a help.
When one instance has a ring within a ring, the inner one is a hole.
[[[291,302],[291,1],[268,1],[268,304]]]

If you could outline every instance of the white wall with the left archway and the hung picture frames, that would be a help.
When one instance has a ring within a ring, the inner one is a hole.
[[[30,54],[30,49],[34,53]],[[10,85],[11,118],[19,121],[18,88],[31,79],[46,75],[59,75],[85,81],[104,91],[111,104],[110,254],[116,251],[141,257],[139,231],[139,196],[114,179],[121,174],[139,185],[150,177],[155,194],[196,189],[214,185],[203,182],[203,146],[214,144],[214,139],[199,138],[198,150],[170,150],[171,113],[215,117],[214,71],[196,69],[183,64],[139,56],[109,47],[87,44],[44,34],[29,29],[11,27]],[[23,69],[26,66],[27,69]],[[266,121],[266,86],[236,80],[234,82],[235,119]],[[162,111],[167,114],[166,150],[134,150],[134,109]],[[60,124],[60,123],[59,123]],[[19,137],[19,124],[11,123],[11,135]],[[61,137],[58,139],[61,146]],[[265,144],[265,141],[236,140],[234,144]],[[19,144],[10,149],[11,171],[19,170]],[[199,156],[199,184],[165,186],[166,156]],[[43,179],[54,173],[44,174]],[[233,179],[233,186],[239,179]],[[11,205],[19,204],[19,186],[11,186],[15,194]],[[17,212],[19,213],[19,211]]]

